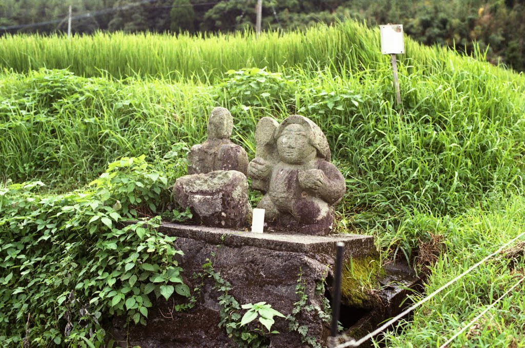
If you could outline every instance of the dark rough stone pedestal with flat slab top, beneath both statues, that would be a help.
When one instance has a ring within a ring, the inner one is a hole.
[[[178,237],[175,244],[184,251],[179,262],[185,281],[191,289],[200,287],[195,293],[197,302],[187,312],[175,312],[174,304],[187,300],[176,297],[166,302],[161,298],[149,311],[148,325],[132,326],[129,331],[124,329],[122,322],[114,320],[112,334],[124,340],[123,345],[127,338],[130,346],[143,348],[238,346],[224,328],[219,328],[224,318],[220,316],[218,298],[223,292],[213,288],[215,280],[212,277],[193,277],[203,273],[203,265],[211,261],[213,271],[231,284],[228,294],[240,305],[265,301],[282,314],[290,315],[297,307],[295,303],[301,297],[307,298],[295,318],[298,325],[308,329],[306,336],[325,346],[330,323],[318,312],[327,302],[326,294],[319,289],[325,279],[333,276],[335,242],[345,243],[347,259],[370,257],[376,252],[371,236],[254,234],[169,223],[162,224],[160,230]],[[297,293],[298,283],[302,287],[300,293]],[[244,312],[246,310],[239,311],[240,315]],[[272,347],[308,346],[301,342],[304,335],[290,331],[289,324],[290,320],[275,318],[272,330],[279,333],[267,334],[267,343]]]

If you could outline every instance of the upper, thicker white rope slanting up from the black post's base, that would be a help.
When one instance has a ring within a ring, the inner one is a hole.
[[[411,305],[411,307],[407,308],[406,310],[404,310],[403,312],[401,312],[400,314],[397,314],[394,318],[388,320],[386,323],[384,323],[383,325],[381,325],[379,328],[377,328],[376,330],[372,331],[371,333],[367,334],[366,336],[364,336],[363,338],[359,339],[358,341],[355,341],[355,340],[351,340],[351,341],[348,341],[348,342],[345,342],[345,343],[342,343],[342,344],[339,344],[337,346],[335,346],[334,348],[346,348],[346,347],[358,347],[360,346],[361,344],[363,344],[364,342],[370,340],[371,338],[373,338],[374,336],[376,336],[377,334],[380,334],[381,332],[383,332],[385,329],[387,329],[388,327],[390,327],[392,324],[394,324],[395,322],[397,322],[398,320],[400,320],[401,318],[405,317],[405,315],[407,315],[408,313],[412,312],[414,309],[418,308],[419,306],[421,306],[422,304],[428,302],[430,299],[432,299],[434,296],[436,296],[438,293],[442,292],[444,289],[446,289],[447,287],[449,287],[451,284],[454,284],[456,281],[458,281],[459,279],[465,277],[466,275],[468,275],[468,273],[470,273],[472,270],[476,269],[479,265],[481,265],[482,263],[484,263],[485,261],[487,261],[488,259],[492,258],[493,256],[495,256],[496,254],[499,254],[499,252],[501,252],[503,249],[505,249],[506,247],[508,247],[510,244],[512,244],[512,242],[516,241],[517,239],[523,237],[525,235],[525,232],[521,233],[518,237],[510,240],[509,242],[507,242],[505,245],[502,245],[498,250],[492,252],[492,254],[490,254],[489,256],[485,257],[484,259],[482,259],[481,261],[477,262],[475,265],[471,266],[469,269],[467,269],[465,272],[461,273],[459,276],[457,276],[456,278],[450,280],[449,282],[447,282],[444,286],[440,287],[439,289],[437,289],[436,291],[434,291],[433,293],[429,294],[427,297],[425,297],[423,300],[417,302],[417,303],[414,303],[413,305]]]

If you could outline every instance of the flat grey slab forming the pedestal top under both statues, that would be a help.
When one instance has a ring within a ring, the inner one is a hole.
[[[364,235],[311,236],[285,233],[252,233],[250,231],[166,222],[162,223],[159,230],[169,236],[202,240],[229,247],[251,246],[276,251],[331,255],[335,251],[335,243],[341,241],[345,244],[346,257],[361,257],[375,252],[374,238]]]

